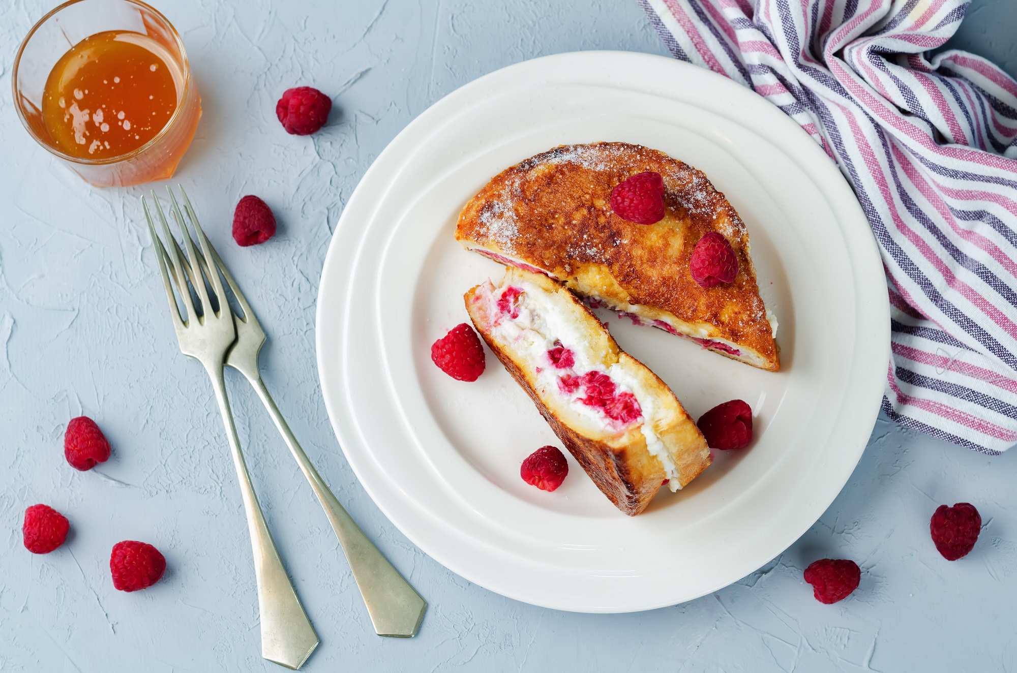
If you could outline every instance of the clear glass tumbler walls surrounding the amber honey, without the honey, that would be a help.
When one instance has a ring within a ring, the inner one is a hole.
[[[117,157],[81,159],[59,149],[43,123],[43,90],[57,61],[97,33],[133,30],[160,46],[176,85],[177,107],[166,126],[146,143]],[[201,98],[183,42],[159,11],[138,0],[70,0],[44,16],[21,43],[11,76],[14,107],[39,144],[97,187],[123,187],[173,175],[201,117]]]

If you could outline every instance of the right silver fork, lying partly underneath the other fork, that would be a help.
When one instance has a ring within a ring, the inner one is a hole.
[[[187,198],[187,193],[183,187],[180,188],[180,191],[183,196],[184,211],[192,222],[197,223],[197,216]],[[175,241],[174,244],[176,244]],[[364,535],[346,508],[340,504],[324,480],[321,479],[310,458],[304,453],[304,449],[300,447],[297,438],[293,436],[290,426],[286,423],[286,419],[283,418],[261,379],[258,357],[261,353],[261,347],[265,343],[264,330],[212,243],[208,243],[207,249],[216,262],[216,267],[226,279],[226,283],[230,286],[233,296],[240,305],[241,313],[243,313],[241,315],[236,311],[233,312],[237,341],[230,349],[226,364],[239,371],[250,382],[258,397],[261,399],[261,404],[268,411],[276,428],[283,435],[286,445],[290,447],[290,452],[293,453],[297,465],[300,466],[301,472],[307,478],[307,482],[314,491],[321,508],[324,509],[324,513],[336,532],[336,537],[339,538],[339,543],[343,547],[350,569],[353,570],[353,577],[360,589],[360,595],[367,606],[367,613],[371,618],[374,631],[378,635],[395,637],[416,635],[424,617],[427,603],[403,578],[399,570],[393,567],[377,547],[367,539],[367,536]],[[205,276],[208,274],[207,268],[202,270]]]

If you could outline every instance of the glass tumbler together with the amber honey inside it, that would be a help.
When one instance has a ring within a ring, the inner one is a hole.
[[[138,0],[70,0],[14,59],[14,107],[36,140],[97,187],[173,175],[201,99],[183,42]]]

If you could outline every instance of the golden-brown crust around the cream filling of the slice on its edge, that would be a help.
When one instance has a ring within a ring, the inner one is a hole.
[[[668,447],[668,452],[675,463],[679,486],[685,486],[703,470],[710,467],[711,455],[706,439],[666,383],[646,365],[621,351],[596,315],[576,301],[566,290],[546,277],[515,268],[510,268],[503,285],[507,285],[516,278],[529,281],[548,291],[563,293],[571,304],[583,313],[585,327],[591,332],[589,342],[591,345],[597,345],[595,349],[603,355],[606,364],[622,362],[626,371],[637,376],[646,389],[654,394],[660,408],[666,410],[665,420],[654,426],[654,431]],[[604,495],[630,516],[642,512],[656,495],[667,475],[661,462],[648,450],[640,426],[634,426],[620,435],[605,436],[599,432],[571,427],[558,414],[549,409],[534,387],[534,372],[525,370],[524,364],[517,362],[513,355],[491,335],[486,316],[475,301],[481,287],[477,286],[467,292],[464,300],[467,312],[484,342],[513,378],[530,395],[540,415]]]

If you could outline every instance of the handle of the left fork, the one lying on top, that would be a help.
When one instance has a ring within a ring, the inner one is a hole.
[[[298,669],[318,645],[317,634],[311,626],[304,608],[300,605],[290,577],[286,574],[283,561],[279,558],[276,543],[265,524],[261,506],[254,493],[254,485],[247,474],[247,465],[240,451],[237,428],[233,423],[230,401],[226,396],[223,379],[223,364],[205,364],[212,377],[219,411],[226,425],[226,435],[230,440],[233,465],[237,469],[237,481],[247,515],[247,529],[254,551],[254,577],[257,583],[257,604],[261,621],[261,656],[291,669]]]

